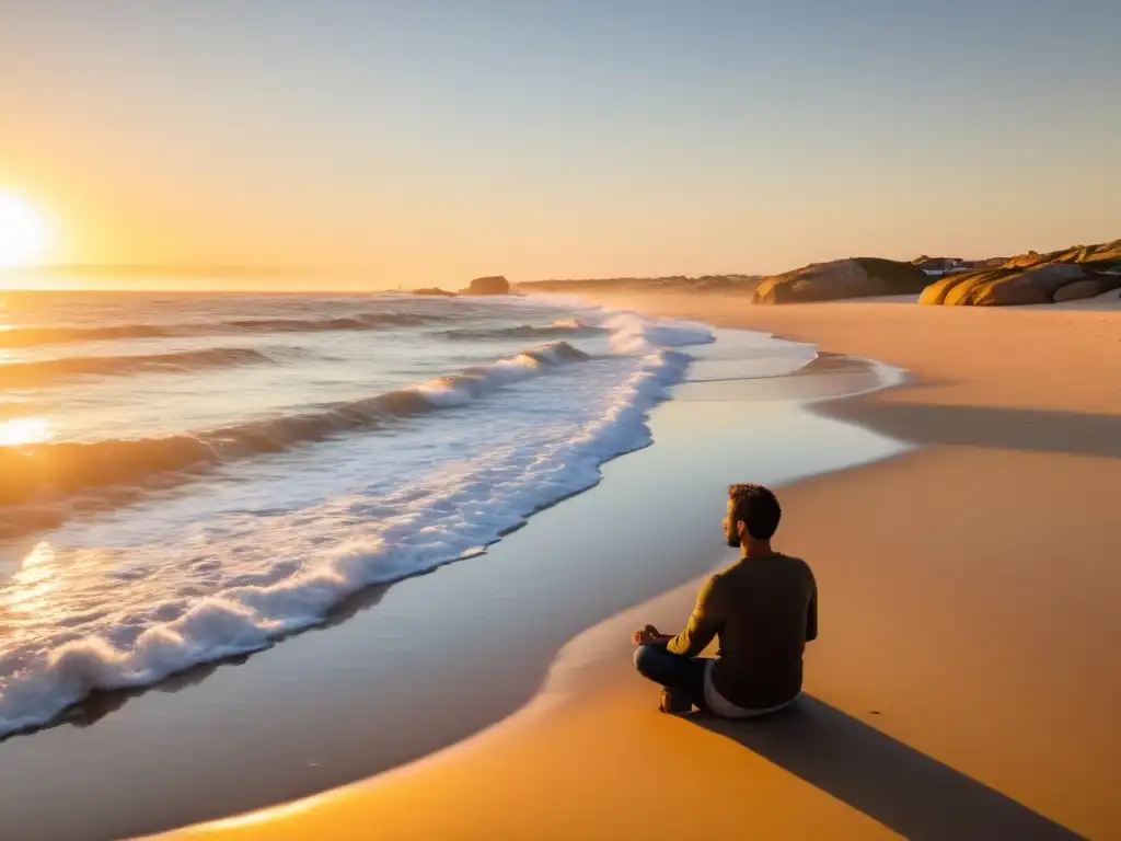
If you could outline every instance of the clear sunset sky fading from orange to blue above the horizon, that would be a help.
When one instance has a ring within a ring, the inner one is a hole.
[[[43,259],[772,272],[1121,237],[1117,0],[0,0]]]

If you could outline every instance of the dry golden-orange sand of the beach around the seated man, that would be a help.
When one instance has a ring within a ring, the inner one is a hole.
[[[798,709],[655,711],[627,637],[684,621],[689,582],[573,639],[528,706],[451,749],[177,837],[1121,837],[1118,303],[610,303],[911,373],[817,410],[918,446],[780,493],[778,545],[822,593]]]

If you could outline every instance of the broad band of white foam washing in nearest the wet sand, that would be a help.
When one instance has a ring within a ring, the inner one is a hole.
[[[633,313],[585,315],[611,331],[613,355],[556,343],[428,380],[414,388],[450,412],[415,427],[61,529],[0,590],[0,734],[95,690],[268,646],[362,588],[478,555],[595,484],[604,461],[650,443],[647,413],[691,361],[673,348],[713,338]]]

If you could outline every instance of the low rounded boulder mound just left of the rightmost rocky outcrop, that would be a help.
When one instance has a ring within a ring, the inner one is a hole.
[[[918,267],[895,260],[858,257],[805,266],[763,279],[754,304],[795,304],[874,295],[914,295],[930,278]]]

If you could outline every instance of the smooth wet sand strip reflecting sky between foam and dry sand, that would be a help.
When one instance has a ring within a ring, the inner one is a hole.
[[[805,348],[735,336],[742,346],[698,348],[720,359],[696,362],[686,379],[720,379],[702,377],[703,366],[725,375],[750,364],[761,376],[789,369],[788,352],[805,359]],[[649,419],[658,446],[604,463],[599,486],[482,556],[367,591],[346,621],[240,663],[106,694],[73,726],[7,740],[0,773],[15,783],[0,796],[0,823],[35,826],[41,839],[154,832],[314,795],[470,738],[530,701],[574,635],[726,553],[710,509],[739,475],[721,442],[743,428],[743,399],[761,400],[749,427],[767,449],[742,458],[769,481],[793,479],[895,452],[800,403],[878,387],[878,376],[823,360],[789,377],[678,385]],[[698,449],[701,424],[723,432]],[[658,506],[675,511],[673,533],[643,534]],[[109,757],[114,774],[98,774]],[[45,788],[68,808],[40,804],[34,792]]]

